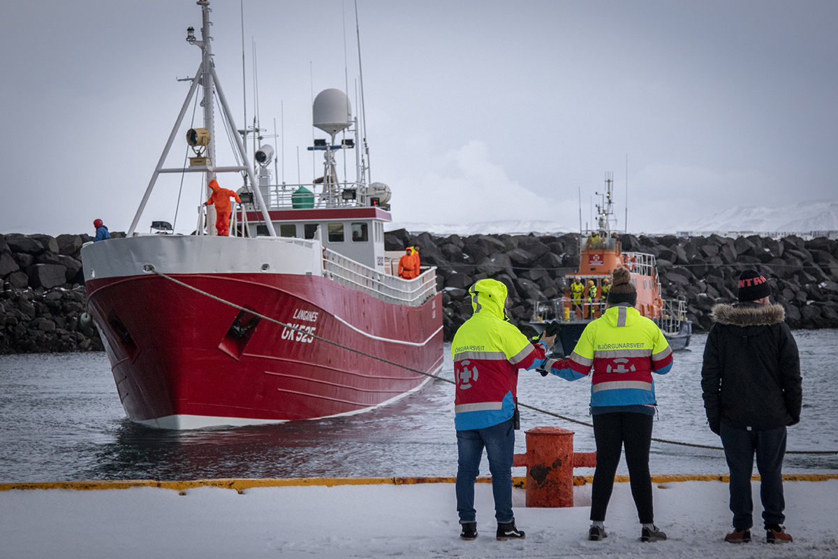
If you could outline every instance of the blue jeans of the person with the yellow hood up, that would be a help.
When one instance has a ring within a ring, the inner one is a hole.
[[[515,522],[512,515],[512,460],[515,430],[512,420],[471,431],[457,432],[457,512],[460,524],[477,521],[474,510],[474,480],[480,468],[483,449],[489,457],[494,494],[494,518],[499,524]]]

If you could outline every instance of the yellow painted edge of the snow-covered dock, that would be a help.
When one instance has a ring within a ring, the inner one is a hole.
[[[759,476],[752,478],[759,481]],[[826,481],[838,479],[838,474],[784,474],[784,481]],[[21,482],[14,484],[0,484],[0,491],[11,491],[13,489],[132,489],[134,487],[158,487],[161,489],[174,489],[182,494],[187,489],[198,487],[220,487],[222,489],[235,489],[241,493],[244,489],[256,487],[292,487],[292,486],[325,486],[336,485],[415,485],[415,484],[453,484],[456,477],[419,477],[419,478],[261,478],[261,479],[195,479],[193,481],[157,481],[155,479],[122,479],[107,481],[49,481],[49,482]],[[492,479],[480,477],[478,483],[490,484]],[[618,475],[614,478],[618,483],[626,483],[629,476]],[[653,475],[652,483],[670,484],[682,481],[718,481],[728,483],[730,476],[727,474],[716,475]],[[512,478],[515,487],[526,489],[526,478],[515,476]],[[593,476],[577,475],[573,477],[574,485],[585,485],[593,482]]]

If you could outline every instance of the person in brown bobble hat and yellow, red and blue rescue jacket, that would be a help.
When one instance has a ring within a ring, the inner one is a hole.
[[[624,446],[631,492],[637,507],[641,541],[661,541],[666,535],[654,526],[649,448],[652,440],[654,381],[672,368],[672,349],[657,324],[640,316],[637,289],[624,267],[613,271],[608,308],[582,331],[568,360],[548,360],[546,369],[566,380],[591,375],[593,437],[597,469],[591,489],[591,529],[588,539],[605,536],[605,512],[614,474]]]

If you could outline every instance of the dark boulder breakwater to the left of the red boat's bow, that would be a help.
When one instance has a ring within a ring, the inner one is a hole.
[[[80,323],[87,295],[80,249],[87,235],[0,235],[0,355],[103,349]]]

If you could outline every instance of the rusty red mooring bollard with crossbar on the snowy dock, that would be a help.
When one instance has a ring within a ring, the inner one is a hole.
[[[574,453],[573,432],[535,427],[526,432],[526,454],[515,454],[515,466],[526,466],[528,507],[573,506],[573,468],[593,468],[597,453]]]

